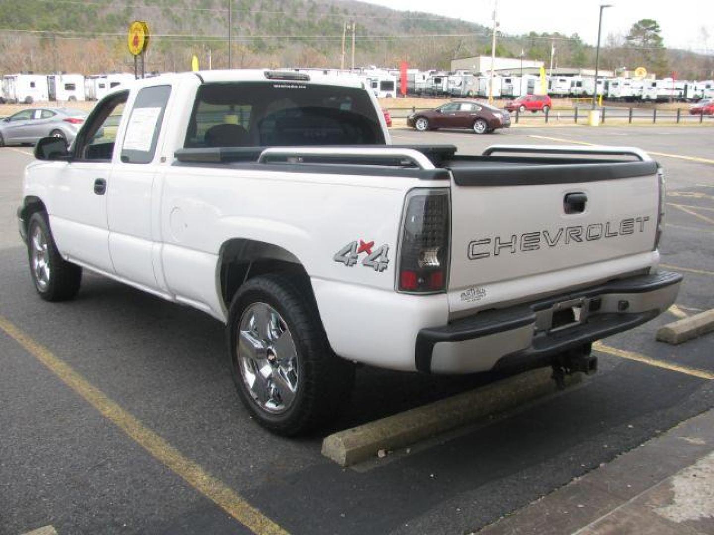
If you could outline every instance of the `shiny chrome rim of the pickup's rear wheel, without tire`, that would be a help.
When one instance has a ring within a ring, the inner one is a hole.
[[[283,317],[262,302],[241,315],[238,368],[253,401],[273,414],[286,412],[298,391],[298,354]]]

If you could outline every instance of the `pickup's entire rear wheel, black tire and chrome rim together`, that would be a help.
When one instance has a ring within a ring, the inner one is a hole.
[[[228,350],[238,396],[271,432],[305,434],[349,400],[353,366],[333,354],[307,288],[265,275],[236,292]]]

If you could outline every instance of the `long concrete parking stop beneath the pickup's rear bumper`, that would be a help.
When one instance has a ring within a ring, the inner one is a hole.
[[[531,399],[556,392],[550,368],[531,370],[486,387],[463,392],[416,409],[346,429],[326,437],[322,454],[341,467],[375,457],[380,450],[394,450],[428,437],[503,412]],[[580,374],[566,384],[582,380]]]

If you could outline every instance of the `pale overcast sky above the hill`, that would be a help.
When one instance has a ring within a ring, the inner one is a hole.
[[[494,0],[366,0],[392,9],[453,16],[491,26]],[[498,0],[499,29],[506,34],[559,31],[580,34],[595,44],[600,4],[613,4],[603,14],[603,42],[608,34],[627,34],[640,19],[660,24],[665,46],[714,53],[714,0]],[[709,34],[702,37],[702,27]]]

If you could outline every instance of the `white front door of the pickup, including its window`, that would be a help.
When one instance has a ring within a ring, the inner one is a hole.
[[[74,141],[71,161],[57,162],[48,207],[55,241],[63,255],[96,270],[114,273],[109,255],[107,191],[111,188],[114,141],[128,91],[98,103]]]

